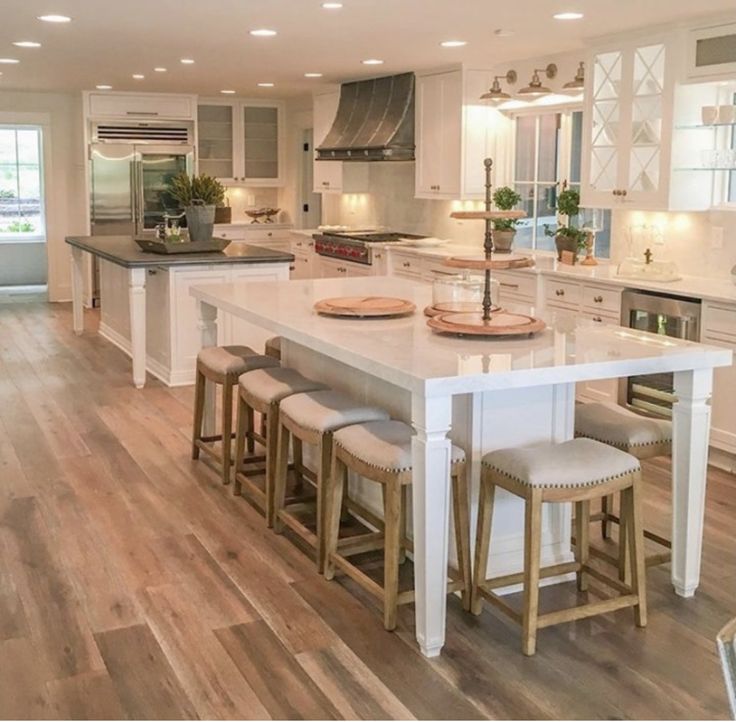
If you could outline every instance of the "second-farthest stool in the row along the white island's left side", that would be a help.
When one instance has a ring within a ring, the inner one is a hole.
[[[248,496],[265,513],[269,527],[273,526],[273,478],[276,470],[276,449],[279,431],[279,405],[288,396],[324,389],[324,384],[302,376],[294,369],[281,367],[249,371],[238,382],[238,423],[235,442],[235,483],[233,494],[240,495],[245,486]],[[263,429],[256,431],[254,413],[261,414]],[[265,456],[255,455],[255,443],[265,447]],[[248,455],[246,456],[246,445]],[[303,473],[301,442],[294,444],[297,473]],[[261,465],[265,485],[261,489],[249,477],[249,465]]]

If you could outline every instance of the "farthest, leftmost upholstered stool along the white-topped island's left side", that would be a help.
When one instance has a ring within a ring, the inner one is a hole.
[[[199,459],[204,451],[215,463],[222,475],[222,483],[230,483],[232,459],[233,387],[238,377],[254,369],[278,366],[270,356],[256,353],[247,346],[209,346],[197,354],[197,376],[194,386],[194,432],[192,434],[192,459]],[[205,382],[222,387],[222,422],[219,434],[204,436]],[[218,452],[215,442],[221,441]]]

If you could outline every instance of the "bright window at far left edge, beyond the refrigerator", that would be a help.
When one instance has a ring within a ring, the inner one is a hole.
[[[41,129],[0,125],[0,241],[46,240]]]

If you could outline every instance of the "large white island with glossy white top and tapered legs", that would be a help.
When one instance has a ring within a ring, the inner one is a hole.
[[[547,330],[534,338],[438,336],[422,315],[431,287],[397,278],[204,285],[191,293],[199,301],[203,345],[216,342],[218,312],[262,326],[285,339],[285,365],[379,403],[414,426],[416,635],[425,655],[439,654],[445,638],[450,439],[471,460],[475,510],[485,453],[572,437],[577,382],[674,372],[672,583],[677,594],[694,594],[700,578],[713,368],[729,365],[731,351],[570,316],[548,318]],[[413,300],[418,310],[408,318],[387,320],[327,318],[313,311],[315,301],[347,295],[397,296]],[[570,559],[570,510],[549,506],[543,565]],[[520,501],[500,495],[493,527],[489,571],[519,571]]]

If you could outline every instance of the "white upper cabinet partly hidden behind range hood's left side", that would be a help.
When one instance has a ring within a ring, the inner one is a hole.
[[[314,173],[315,193],[362,193],[368,190],[368,163],[343,163],[317,160],[317,148],[332,128],[340,104],[340,91],[314,96]]]

